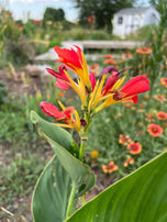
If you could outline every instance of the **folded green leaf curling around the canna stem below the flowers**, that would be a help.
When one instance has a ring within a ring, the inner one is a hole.
[[[70,178],[76,187],[76,197],[80,197],[90,188],[92,188],[94,185],[94,175],[90,167],[76,158],[74,156],[75,154],[71,155],[71,153],[69,153],[71,147],[70,144],[73,143],[73,147],[75,144],[70,135],[63,129],[48,123],[47,121],[44,121],[34,111],[31,113],[31,119],[34,123],[36,123],[41,134],[52,145],[53,151],[60,160],[60,164],[70,175]]]

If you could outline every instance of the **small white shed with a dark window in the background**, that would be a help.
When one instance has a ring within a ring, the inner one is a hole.
[[[158,24],[159,19],[154,7],[122,9],[113,15],[113,34],[124,37],[142,26]]]

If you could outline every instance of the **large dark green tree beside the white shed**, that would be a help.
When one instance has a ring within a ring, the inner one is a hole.
[[[79,9],[79,23],[88,24],[88,18],[96,15],[96,27],[112,29],[113,14],[123,8],[133,7],[136,0],[74,0]]]

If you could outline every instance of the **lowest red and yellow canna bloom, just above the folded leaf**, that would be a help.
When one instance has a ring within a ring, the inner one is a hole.
[[[56,123],[56,125],[63,127],[71,127],[77,131],[80,131],[80,120],[78,112],[73,107],[65,108],[60,102],[63,111],[59,111],[53,103],[49,102],[41,102],[41,109],[48,115],[56,119],[56,121],[62,121],[64,123]]]

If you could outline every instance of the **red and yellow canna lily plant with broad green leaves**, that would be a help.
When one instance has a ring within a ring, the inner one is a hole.
[[[74,45],[71,48],[55,46],[55,52],[58,55],[56,62],[60,63],[59,69],[46,70],[55,77],[56,87],[63,90],[73,88],[78,93],[82,115],[79,116],[74,107],[65,107],[60,101],[58,108],[47,101],[40,103],[41,109],[54,118],[54,123],[43,120],[34,111],[31,112],[32,122],[36,124],[40,134],[47,140],[55,153],[34,189],[32,200],[34,221],[155,221],[152,220],[155,218],[153,213],[155,208],[158,220],[167,219],[167,197],[159,207],[164,193],[167,193],[164,184],[167,180],[166,154],[144,165],[86,203],[86,195],[96,182],[94,174],[85,159],[88,130],[93,116],[104,108],[119,102],[137,103],[138,93],[149,90],[148,79],[145,76],[137,76],[125,82],[127,75],[125,70],[129,68],[119,71],[109,66],[102,70],[97,80],[94,74],[89,73],[84,53],[78,46]],[[69,69],[77,75],[77,80],[71,78]],[[63,127],[76,130],[80,137],[79,144],[76,144]],[[157,197],[151,195],[155,192]],[[80,209],[78,209],[79,199],[82,204]]]

